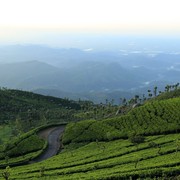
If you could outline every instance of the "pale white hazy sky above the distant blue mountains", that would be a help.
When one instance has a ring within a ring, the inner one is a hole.
[[[52,45],[72,34],[179,36],[179,2],[0,0],[0,43]]]

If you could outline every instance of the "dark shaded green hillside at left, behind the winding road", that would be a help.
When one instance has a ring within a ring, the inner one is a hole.
[[[47,123],[70,121],[80,109],[80,104],[68,99],[5,88],[0,90],[0,124],[12,127],[13,135]]]

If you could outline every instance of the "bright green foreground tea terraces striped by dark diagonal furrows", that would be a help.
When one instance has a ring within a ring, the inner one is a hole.
[[[91,142],[41,163],[12,168],[12,179],[148,179],[179,177],[180,135],[147,136],[144,143],[129,140]],[[153,144],[153,145],[152,145]]]

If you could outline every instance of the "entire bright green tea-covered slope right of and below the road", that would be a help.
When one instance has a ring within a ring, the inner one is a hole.
[[[33,180],[178,180],[179,94],[179,89],[162,93],[131,109],[125,105],[92,109],[89,103],[84,104],[75,117],[89,119],[67,125],[62,138],[64,150],[59,155],[36,164],[4,168],[2,173],[10,172],[12,179]],[[119,114],[115,113],[117,109]]]

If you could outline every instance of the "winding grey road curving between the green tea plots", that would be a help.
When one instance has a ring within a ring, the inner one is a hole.
[[[38,136],[48,141],[48,147],[39,157],[33,159],[30,163],[36,163],[48,159],[58,153],[61,148],[60,136],[65,129],[65,125],[44,129],[38,133]]]

